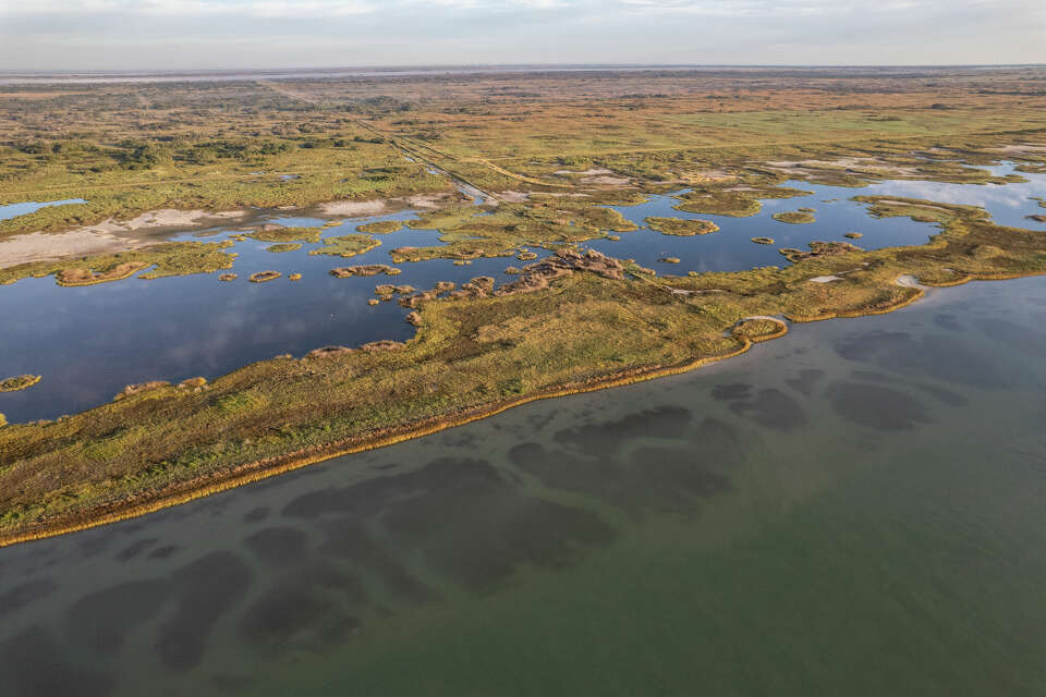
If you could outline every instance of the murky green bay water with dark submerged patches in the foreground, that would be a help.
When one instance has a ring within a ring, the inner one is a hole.
[[[933,291],[0,550],[0,694],[1046,694],[1044,359]]]

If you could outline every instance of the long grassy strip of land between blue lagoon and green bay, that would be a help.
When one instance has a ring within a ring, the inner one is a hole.
[[[895,210],[896,200],[867,203]],[[920,206],[908,207],[917,215]],[[332,355],[320,371],[308,358],[277,358],[206,391],[160,386],[61,421],[9,426],[0,431],[0,527],[17,538],[75,526],[102,501],[161,505],[196,492],[200,478],[209,487],[256,478],[366,447],[375,432],[391,442],[520,400],[686,369],[779,329],[739,326],[746,317],[812,321],[910,303],[922,292],[898,284],[902,274],[945,285],[1046,273],[1043,233],[995,225],[980,209],[935,208],[942,229],[924,246],[815,243],[783,269],[643,281],[567,272],[544,290],[423,302],[405,346]],[[120,447],[107,450],[104,470],[70,467],[114,436]]]

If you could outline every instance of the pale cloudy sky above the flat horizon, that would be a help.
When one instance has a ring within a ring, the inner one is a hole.
[[[1046,0],[0,0],[0,71],[1046,62]]]

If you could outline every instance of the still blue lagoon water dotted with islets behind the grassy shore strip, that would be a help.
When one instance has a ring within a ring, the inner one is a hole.
[[[990,169],[996,175],[1013,171],[1004,164]],[[1000,185],[957,185],[934,182],[888,181],[864,188],[789,185],[814,192],[811,196],[765,200],[762,211],[750,218],[685,213],[674,210],[671,196],[652,196],[648,203],[617,207],[640,225],[646,217],[680,217],[714,220],[721,230],[714,234],[678,237],[649,229],[621,233],[618,242],[597,240],[587,244],[619,258],[634,258],[660,273],[690,270],[722,271],[757,266],[783,266],[778,249],[805,248],[813,241],[847,241],[844,233],[864,234],[852,241],[874,249],[925,244],[937,227],[907,218],[877,220],[866,207],[849,200],[855,195],[890,195],[929,198],[984,206],[1004,224],[1046,230],[1046,224],[1025,217],[1043,212],[1033,197],[1046,197],[1046,175],[1026,174],[1030,182]],[[71,201],[56,201],[54,205]],[[40,207],[45,204],[32,204]],[[16,206],[25,206],[19,204]],[[816,209],[817,221],[789,224],[773,213],[800,207]],[[23,215],[35,208],[0,207],[0,217]],[[330,218],[302,217],[307,211],[255,211],[252,222],[285,225],[319,225]],[[376,218],[354,219],[329,228],[325,236],[351,233],[376,220],[409,220],[403,211]],[[235,227],[241,227],[238,222]],[[173,235],[174,240],[220,241],[235,234],[233,227],[202,233]],[[503,271],[523,266],[512,256],[475,259],[470,266],[451,260],[400,264],[397,277],[338,279],[329,274],[337,266],[389,262],[389,250],[399,246],[440,244],[434,230],[403,229],[375,235],[381,246],[342,259],[309,255],[321,246],[306,244],[289,253],[267,252],[270,243],[236,242],[239,256],[232,271],[240,278],[221,282],[218,274],[196,274],[143,281],[127,279],[87,288],[61,288],[52,278],[24,279],[0,286],[0,377],[42,376],[35,387],[0,394],[0,413],[9,421],[54,418],[96,406],[112,399],[124,386],[148,380],[180,381],[203,376],[215,378],[255,360],[279,354],[301,356],[330,344],[355,346],[379,339],[404,340],[414,328],[404,321],[410,311],[396,302],[367,305],[380,283],[409,284],[426,290],[437,281],[462,283],[477,276],[494,277],[498,284],[514,277]],[[769,236],[774,245],[761,245],[753,236]],[[535,249],[542,255],[548,252]],[[664,264],[671,256],[681,262]],[[283,273],[268,283],[250,283],[247,277],[266,269]],[[290,273],[302,273],[297,282]]]

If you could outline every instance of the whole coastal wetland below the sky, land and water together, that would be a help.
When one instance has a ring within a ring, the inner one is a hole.
[[[1042,694],[1044,76],[0,86],[3,692]]]

